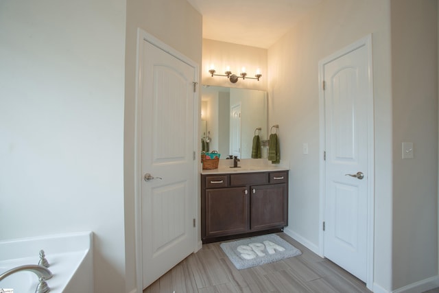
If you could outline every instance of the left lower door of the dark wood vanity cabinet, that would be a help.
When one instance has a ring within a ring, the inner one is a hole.
[[[246,187],[206,189],[206,237],[247,232],[248,204]]]

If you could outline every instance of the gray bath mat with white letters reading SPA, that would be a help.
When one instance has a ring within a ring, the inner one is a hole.
[[[238,270],[302,254],[300,250],[275,234],[224,242],[219,246]]]

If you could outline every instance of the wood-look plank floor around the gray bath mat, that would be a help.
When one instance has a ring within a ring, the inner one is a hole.
[[[371,292],[365,283],[335,263],[322,259],[284,233],[278,235],[300,249],[302,255],[237,270],[219,247],[220,242],[204,244],[143,293]]]

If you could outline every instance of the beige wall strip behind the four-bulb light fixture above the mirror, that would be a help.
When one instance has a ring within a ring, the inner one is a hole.
[[[249,77],[254,77],[257,69],[261,71],[262,77],[259,81],[239,78],[233,84],[226,77],[212,77],[209,73],[211,65],[215,66],[215,74],[224,74],[226,67],[230,67],[232,73],[239,75],[241,68],[245,67]],[[267,91],[267,49],[203,39],[200,70],[202,84]]]

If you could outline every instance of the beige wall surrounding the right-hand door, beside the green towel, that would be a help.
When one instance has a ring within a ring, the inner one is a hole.
[[[392,288],[392,89],[388,1],[322,1],[268,50],[270,124],[289,162],[287,232],[319,250],[318,62],[372,33],[375,95],[375,283]],[[309,154],[302,154],[309,143]],[[378,147],[379,146],[379,147]]]

